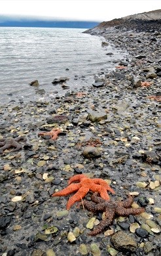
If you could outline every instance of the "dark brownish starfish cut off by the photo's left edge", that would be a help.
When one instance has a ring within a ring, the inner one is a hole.
[[[22,148],[21,144],[18,143],[20,140],[26,140],[26,137],[17,137],[15,139],[13,138],[7,138],[7,139],[0,139],[0,154],[3,153],[4,150],[9,149],[9,148],[15,148],[12,151],[17,151]]]

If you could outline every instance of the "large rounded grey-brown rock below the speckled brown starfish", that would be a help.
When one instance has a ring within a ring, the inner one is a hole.
[[[135,251],[137,243],[134,238],[124,231],[118,231],[113,234],[111,243],[118,251]]]

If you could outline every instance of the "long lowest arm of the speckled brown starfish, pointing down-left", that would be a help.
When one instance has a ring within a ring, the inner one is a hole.
[[[107,213],[107,210],[106,210]],[[92,230],[90,233],[88,233],[90,236],[96,236],[97,234],[105,231],[109,225],[113,222],[113,219],[115,217],[115,211],[113,211],[113,209],[108,209],[108,219],[104,219],[103,221],[101,221],[100,224],[98,224],[98,226],[96,226],[96,228],[94,228],[94,230]]]

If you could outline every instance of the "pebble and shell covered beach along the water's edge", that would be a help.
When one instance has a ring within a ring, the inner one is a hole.
[[[56,189],[67,186],[70,177],[80,173],[107,179],[116,192],[116,196],[110,194],[111,198],[123,199],[129,192],[136,192],[134,201],[145,207],[147,217],[118,218],[108,230],[113,233],[122,230],[132,236],[137,245],[130,255],[160,253],[160,102],[149,96],[160,95],[161,35],[160,32],[97,34],[126,49],[129,56],[116,63],[113,72],[98,74],[95,87],[79,89],[77,93],[84,95],[67,93],[52,101],[10,102],[0,107],[1,137],[27,139],[20,142],[22,150],[5,152],[0,160],[1,215],[10,217],[9,225],[1,230],[2,255],[9,251],[15,252],[10,255],[18,256],[43,255],[48,249],[54,251],[51,255],[59,256],[129,255],[130,247],[118,253],[111,249],[116,249],[111,243],[113,234],[87,235],[86,224],[92,217],[101,221],[100,215],[78,209],[77,204],[65,211],[67,197],[51,197]],[[150,85],[142,87],[141,82]],[[90,121],[91,112],[107,118]],[[59,115],[65,116],[65,121],[53,123],[54,116]],[[57,140],[38,137],[39,131],[52,127],[63,131]],[[97,139],[99,158],[84,158],[82,151],[88,141]],[[12,202],[14,196],[22,196],[23,200]],[[149,219],[151,226],[147,224]],[[134,223],[139,224],[139,233],[130,231]],[[56,226],[58,232],[47,238],[35,238],[38,233],[45,234],[45,225]],[[75,227],[79,228],[79,234],[74,242],[69,242],[67,234]]]

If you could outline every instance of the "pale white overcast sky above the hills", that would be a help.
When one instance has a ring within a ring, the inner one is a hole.
[[[0,15],[107,21],[161,9],[161,0],[0,0]]]

